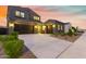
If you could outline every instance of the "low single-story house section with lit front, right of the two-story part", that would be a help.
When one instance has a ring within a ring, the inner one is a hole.
[[[63,23],[57,20],[48,20],[45,24],[46,33],[67,33],[71,28],[70,23]]]

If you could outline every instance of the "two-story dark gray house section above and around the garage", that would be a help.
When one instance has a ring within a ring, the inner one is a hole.
[[[7,30],[20,34],[35,33],[34,26],[40,24],[40,16],[28,8],[9,5],[7,11]]]

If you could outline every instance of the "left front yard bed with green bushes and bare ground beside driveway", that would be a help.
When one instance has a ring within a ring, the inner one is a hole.
[[[10,35],[0,35],[0,59],[2,57],[26,59],[36,56],[25,47],[24,41],[19,39],[17,33],[12,33]]]

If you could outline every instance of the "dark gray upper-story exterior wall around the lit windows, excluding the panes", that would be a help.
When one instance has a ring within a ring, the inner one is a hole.
[[[24,12],[25,13],[25,17],[17,17],[15,16],[15,11],[21,11],[21,12]],[[40,18],[40,16],[35,13],[33,10],[28,9],[28,8],[21,8],[21,7],[13,7],[13,5],[9,5],[8,7],[8,21],[16,21],[16,20],[20,20],[20,21],[24,21],[24,22],[40,22],[39,21],[35,21],[33,18],[33,16],[38,16]]]

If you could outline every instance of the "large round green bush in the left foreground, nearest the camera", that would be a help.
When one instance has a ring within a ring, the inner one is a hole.
[[[19,57],[22,54],[23,47],[23,40],[8,40],[3,44],[5,53],[12,59]]]

